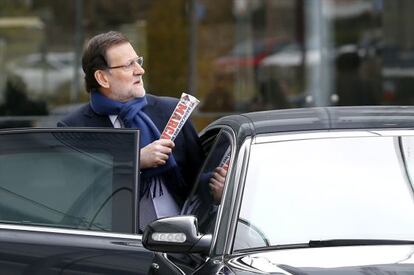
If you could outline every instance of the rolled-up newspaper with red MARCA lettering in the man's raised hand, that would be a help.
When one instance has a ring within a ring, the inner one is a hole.
[[[164,131],[161,134],[161,138],[174,141],[198,103],[200,103],[200,101],[194,96],[182,93],[180,101],[175,107],[174,112],[172,113]]]

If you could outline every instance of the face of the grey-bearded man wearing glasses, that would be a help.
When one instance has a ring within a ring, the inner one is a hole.
[[[106,51],[108,67],[117,67],[131,64],[138,58],[137,53],[130,43],[123,43],[110,47]],[[113,100],[125,102],[145,95],[142,75],[144,69],[134,63],[132,67],[119,67],[107,69],[109,88],[105,95]]]

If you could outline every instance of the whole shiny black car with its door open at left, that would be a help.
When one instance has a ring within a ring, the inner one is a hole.
[[[183,215],[140,234],[137,130],[2,130],[1,274],[414,274],[414,107],[233,115],[200,137]]]

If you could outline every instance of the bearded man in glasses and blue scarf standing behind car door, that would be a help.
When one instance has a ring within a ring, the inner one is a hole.
[[[143,58],[121,33],[93,37],[82,57],[90,102],[58,122],[60,127],[140,129],[141,229],[180,212],[204,159],[189,121],[175,142],[160,139],[178,100],[146,94],[142,65]]]

